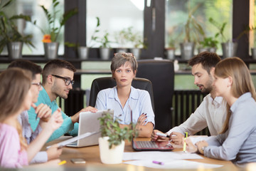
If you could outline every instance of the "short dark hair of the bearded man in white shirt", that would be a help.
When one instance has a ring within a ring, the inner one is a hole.
[[[210,68],[213,68],[221,60],[217,53],[204,51],[194,56],[188,61],[188,66],[194,66],[199,63],[202,64],[203,68],[210,74]]]

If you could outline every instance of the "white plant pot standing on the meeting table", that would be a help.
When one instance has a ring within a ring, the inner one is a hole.
[[[124,154],[124,141],[120,145],[113,145],[112,148],[109,148],[109,138],[99,138],[99,147],[100,147],[100,160],[104,164],[119,164],[122,163],[122,157]]]

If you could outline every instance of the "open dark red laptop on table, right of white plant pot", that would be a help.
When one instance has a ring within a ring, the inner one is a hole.
[[[132,120],[132,108],[131,120]],[[135,151],[171,151],[174,147],[169,141],[137,141],[132,138],[132,148]]]

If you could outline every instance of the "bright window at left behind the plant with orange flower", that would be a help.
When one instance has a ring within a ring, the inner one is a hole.
[[[5,0],[7,1],[7,0]],[[56,18],[60,18],[60,16],[63,15],[64,12],[64,0],[59,0],[60,5],[58,9],[58,16]],[[2,2],[4,4],[4,2]],[[36,25],[38,25],[40,28],[43,30],[46,30],[48,28],[48,22],[46,21],[46,14],[43,12],[43,9],[41,9],[41,6],[43,5],[51,11],[52,8],[52,1],[51,0],[16,0],[13,1],[11,6],[9,8],[6,8],[6,14],[9,16],[12,16],[14,14],[23,14],[23,15],[28,15],[31,16],[32,21],[36,21]],[[55,24],[58,24],[58,20],[56,20]],[[23,35],[28,35],[30,33],[33,34],[32,38],[32,43],[36,48],[29,48],[26,44],[23,44],[23,55],[43,55],[44,50],[43,50],[43,33],[40,31],[39,28],[34,26],[33,24],[22,21],[22,20],[17,20],[17,26],[18,26],[18,31],[20,33],[23,33]],[[58,49],[58,54],[63,55],[64,53],[64,27],[60,31],[60,35],[58,38],[58,41],[60,42],[60,46]],[[7,48],[4,49],[4,51],[1,53],[2,55],[7,55]]]

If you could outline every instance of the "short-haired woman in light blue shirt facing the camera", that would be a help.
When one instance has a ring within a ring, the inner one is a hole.
[[[139,137],[149,138],[154,128],[154,111],[149,92],[132,87],[138,68],[136,59],[132,53],[115,53],[110,68],[117,86],[101,90],[95,108],[114,110],[121,128],[129,125],[132,118],[137,123]]]

